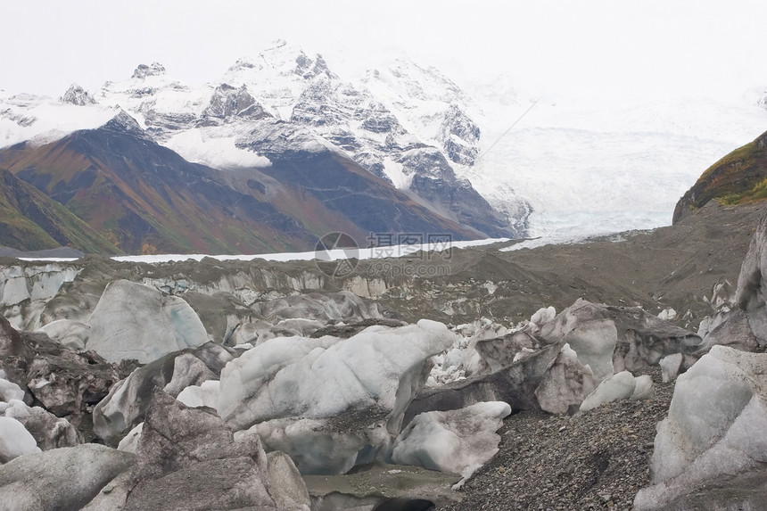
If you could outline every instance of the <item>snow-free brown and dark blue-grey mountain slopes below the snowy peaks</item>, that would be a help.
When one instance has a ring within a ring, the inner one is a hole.
[[[0,165],[77,214],[111,251],[307,250],[338,230],[359,244],[370,232],[477,235],[335,152],[291,150],[262,171],[211,169],[156,144],[124,111],[101,128],[0,150]]]

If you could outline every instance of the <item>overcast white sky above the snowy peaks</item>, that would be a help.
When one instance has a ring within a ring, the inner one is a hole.
[[[460,83],[504,73],[549,94],[767,87],[763,0],[87,0],[0,4],[0,88],[94,91],[161,62],[197,84],[278,37],[346,65],[392,48]]]

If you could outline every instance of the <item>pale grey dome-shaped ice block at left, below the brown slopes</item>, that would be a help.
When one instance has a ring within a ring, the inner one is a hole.
[[[208,341],[202,321],[186,301],[143,284],[107,284],[88,320],[87,348],[120,362],[141,364]]]

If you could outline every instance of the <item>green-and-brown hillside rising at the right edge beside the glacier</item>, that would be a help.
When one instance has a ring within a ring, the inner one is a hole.
[[[713,199],[724,204],[767,198],[767,133],[730,152],[698,178],[674,208],[673,221]]]

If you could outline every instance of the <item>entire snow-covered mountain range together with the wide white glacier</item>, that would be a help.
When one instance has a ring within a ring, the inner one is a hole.
[[[215,169],[335,152],[478,235],[561,239],[669,224],[703,169],[767,126],[763,94],[752,93],[584,105],[507,77],[459,87],[403,56],[344,75],[279,41],[202,87],[155,63],[92,94],[0,94],[0,146],[42,144],[124,110],[159,144]]]

